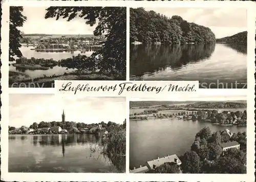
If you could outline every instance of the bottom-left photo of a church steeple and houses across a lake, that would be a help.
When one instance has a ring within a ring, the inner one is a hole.
[[[8,170],[125,173],[124,97],[10,94]]]

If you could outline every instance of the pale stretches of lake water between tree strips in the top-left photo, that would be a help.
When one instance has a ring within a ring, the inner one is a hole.
[[[35,50],[31,50],[32,46],[29,47],[21,47],[19,48],[22,52],[23,56],[30,59],[31,57],[34,57],[36,59],[44,58],[44,59],[53,59],[55,61],[58,61],[60,59],[67,59],[72,56],[77,56],[78,54],[91,56],[93,51],[73,51],[73,52],[37,52]],[[15,62],[9,62],[9,63],[15,63]],[[71,73],[75,71],[76,69],[68,69],[67,67],[61,67],[61,66],[54,66],[51,67],[49,70],[28,70],[28,69],[17,69],[13,65],[9,66],[9,71],[13,72],[19,72],[19,73],[25,73],[31,78],[40,78],[46,76],[53,76],[54,74],[57,75],[63,75],[65,73]]]

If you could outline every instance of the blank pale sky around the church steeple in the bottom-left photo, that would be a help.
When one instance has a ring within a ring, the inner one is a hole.
[[[76,123],[122,124],[126,118],[125,97],[68,97],[53,94],[10,94],[9,126],[30,126],[33,122],[61,122],[62,110],[66,121]]]

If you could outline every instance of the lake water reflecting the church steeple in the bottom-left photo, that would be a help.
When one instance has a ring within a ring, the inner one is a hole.
[[[125,157],[101,154],[100,143],[93,134],[9,135],[9,172],[125,171]]]

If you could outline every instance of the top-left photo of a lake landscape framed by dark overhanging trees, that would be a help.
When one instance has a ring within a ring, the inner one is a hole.
[[[9,87],[125,80],[126,7],[10,7]]]

